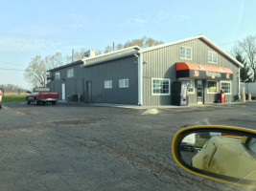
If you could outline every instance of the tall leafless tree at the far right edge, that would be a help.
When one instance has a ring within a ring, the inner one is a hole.
[[[252,81],[256,81],[256,35],[248,35],[238,42],[238,46],[252,72]]]

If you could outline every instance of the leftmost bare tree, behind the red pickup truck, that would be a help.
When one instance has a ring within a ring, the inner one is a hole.
[[[45,86],[46,71],[45,61],[40,55],[36,55],[26,68],[24,77],[33,86]]]

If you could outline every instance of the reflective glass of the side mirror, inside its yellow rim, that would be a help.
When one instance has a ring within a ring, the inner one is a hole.
[[[183,161],[194,168],[237,179],[256,180],[256,138],[198,132],[180,143]]]

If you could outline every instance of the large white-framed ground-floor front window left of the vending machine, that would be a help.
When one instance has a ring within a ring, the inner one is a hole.
[[[152,78],[152,95],[170,95],[170,79]]]

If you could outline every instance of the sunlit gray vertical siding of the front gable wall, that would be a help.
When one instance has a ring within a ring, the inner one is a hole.
[[[192,60],[181,59],[179,57],[180,46],[192,48]],[[220,53],[218,53],[218,63],[208,63],[208,51],[216,52],[200,39],[195,39],[143,53],[143,61],[147,61],[147,64],[143,65],[143,105],[171,104],[171,96],[151,96],[151,78],[170,78],[172,85],[172,82],[177,80],[175,76],[176,62],[198,63],[230,68],[233,71],[232,95],[226,96],[226,100],[232,101],[234,96],[238,94],[238,67]],[[220,86],[220,82],[218,84]],[[206,91],[205,84],[204,102],[213,102],[215,95],[208,95]],[[196,90],[194,95],[189,95],[189,101],[190,103],[197,102]]]

